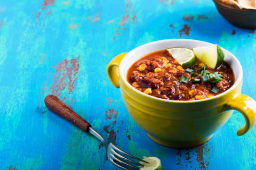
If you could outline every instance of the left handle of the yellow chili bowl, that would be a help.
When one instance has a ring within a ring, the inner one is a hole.
[[[116,87],[119,88],[119,64],[121,63],[122,59],[127,53],[122,53],[115,58],[111,60],[110,63],[108,63],[107,66],[107,73],[108,73],[108,78],[110,79],[111,83]]]

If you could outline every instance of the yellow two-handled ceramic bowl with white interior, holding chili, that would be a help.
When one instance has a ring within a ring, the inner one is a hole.
[[[149,96],[134,89],[126,80],[129,67],[142,56],[171,47],[201,47],[212,45],[189,39],[154,41],[123,53],[108,64],[110,81],[121,90],[124,104],[133,120],[155,142],[174,148],[188,148],[209,140],[225,124],[233,109],[241,112],[246,124],[237,131],[243,135],[256,122],[256,102],[241,94],[243,71],[237,58],[223,49],[225,61],[233,68],[235,83],[220,95],[194,101],[165,100]]]

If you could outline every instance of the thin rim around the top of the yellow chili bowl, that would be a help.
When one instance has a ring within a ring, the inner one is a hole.
[[[222,50],[225,50],[226,53],[229,53],[229,55],[231,56],[231,60],[234,60],[237,64],[238,64],[238,76],[237,78],[235,79],[235,83],[233,84],[232,87],[230,87],[227,91],[225,92],[222,92],[221,94],[219,95],[216,95],[216,96],[213,96],[211,98],[205,98],[205,99],[200,99],[200,100],[167,100],[167,99],[161,99],[161,98],[157,98],[157,97],[154,97],[154,96],[150,96],[150,95],[147,95],[137,89],[135,89],[126,79],[127,77],[127,70],[126,70],[126,74],[125,74],[125,78],[122,77],[122,74],[120,73],[120,70],[122,69],[122,66],[125,64],[124,61],[126,60],[127,57],[129,57],[129,54],[131,54],[132,52],[136,51],[136,50],[139,50],[145,46],[148,46],[148,45],[151,45],[151,44],[157,44],[157,43],[162,43],[163,41],[193,41],[194,43],[205,43],[205,44],[209,44],[209,45],[214,45],[212,43],[208,43],[206,41],[201,41],[201,40],[195,40],[195,39],[164,39],[164,40],[158,40],[158,41],[152,41],[150,43],[147,43],[147,44],[143,44],[139,47],[136,47],[134,49],[132,49],[129,53],[127,53],[124,58],[122,59],[121,63],[119,64],[119,78],[122,79],[122,81],[124,82],[124,84],[129,87],[131,90],[133,90],[134,92],[138,93],[139,95],[142,95],[142,96],[145,96],[147,98],[151,98],[151,99],[154,99],[154,100],[158,100],[158,101],[162,101],[162,102],[165,102],[165,103],[201,103],[203,101],[209,101],[209,100],[214,100],[214,99],[217,99],[217,98],[220,98],[220,97],[223,97],[225,96],[226,94],[228,94],[230,91],[234,90],[240,82],[242,82],[242,79],[243,79],[243,69],[242,69],[242,65],[241,63],[238,61],[238,59],[235,57],[234,54],[232,54],[231,52],[229,52],[227,49],[225,48],[222,48]],[[147,54],[146,54],[147,55]],[[143,57],[143,56],[141,56]],[[140,57],[140,58],[141,58]],[[130,68],[130,67],[129,67]],[[233,68],[232,68],[233,69]]]

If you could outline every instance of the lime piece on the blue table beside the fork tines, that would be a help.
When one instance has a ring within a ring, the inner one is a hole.
[[[140,164],[145,165],[140,170],[162,170],[161,160],[157,157],[144,157],[142,160],[145,160],[149,164],[140,162]]]

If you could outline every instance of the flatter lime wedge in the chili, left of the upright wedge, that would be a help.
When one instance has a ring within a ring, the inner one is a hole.
[[[169,48],[167,50],[180,65],[191,67],[195,64],[196,57],[193,50],[188,48]]]

